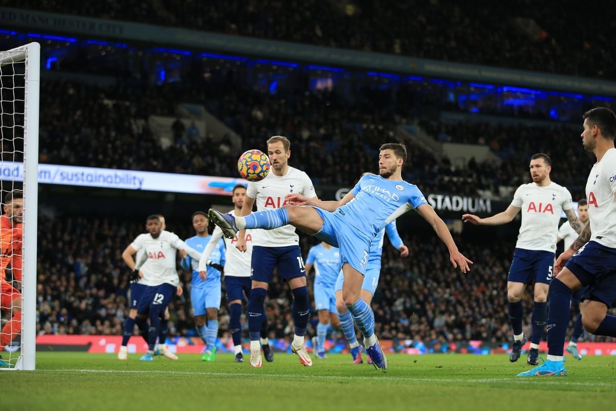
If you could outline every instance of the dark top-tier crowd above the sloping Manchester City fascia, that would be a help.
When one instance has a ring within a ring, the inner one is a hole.
[[[604,2],[532,0],[2,0],[38,9],[452,62],[616,78],[616,20]],[[593,21],[593,26],[585,22]],[[572,34],[573,33],[573,34]]]

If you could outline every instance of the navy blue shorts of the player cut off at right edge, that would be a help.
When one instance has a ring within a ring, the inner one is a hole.
[[[582,301],[590,299],[606,304],[616,301],[616,248],[589,241],[567,261],[569,269],[582,283],[588,285]]]

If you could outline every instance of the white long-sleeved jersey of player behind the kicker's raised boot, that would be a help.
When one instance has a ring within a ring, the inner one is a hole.
[[[230,212],[233,216],[237,217],[235,209]],[[225,245],[227,251],[225,254],[225,276],[227,277],[250,277],[251,259],[253,257],[253,238],[255,230],[246,230],[246,252],[242,253],[235,248],[237,243],[237,236],[233,239],[225,238]],[[207,271],[206,266],[209,261],[209,256],[214,251],[218,240],[222,237],[221,227],[216,226],[212,233],[212,238],[209,240],[208,245],[203,251],[203,255],[199,260],[198,271]]]

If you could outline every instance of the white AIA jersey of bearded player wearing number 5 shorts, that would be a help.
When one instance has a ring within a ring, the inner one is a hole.
[[[558,222],[563,210],[571,210],[569,190],[552,182],[540,187],[534,182],[517,188],[511,205],[522,209],[522,225],[516,248],[536,251],[556,251]]]

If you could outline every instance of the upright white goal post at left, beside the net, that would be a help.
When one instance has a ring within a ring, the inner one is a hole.
[[[26,47],[23,175],[22,370],[36,367],[36,243],[38,222],[39,83],[41,46]]]

